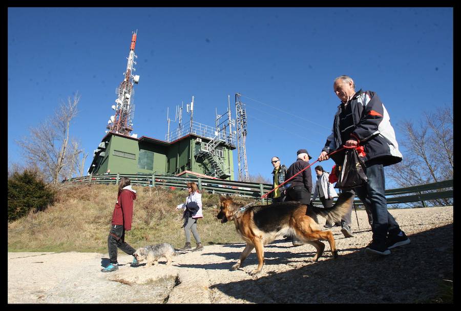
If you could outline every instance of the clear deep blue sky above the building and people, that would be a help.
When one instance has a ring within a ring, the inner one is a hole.
[[[318,157],[339,75],[378,93],[397,141],[399,121],[453,105],[452,8],[9,8],[9,163],[22,162],[15,139],[78,91],[71,134],[89,167],[136,29],[133,133],[165,139],[166,107],[174,118],[192,96],[195,121],[213,126],[227,95],[235,118],[240,93],[249,173],[268,179],[273,156],[287,166],[301,148]]]

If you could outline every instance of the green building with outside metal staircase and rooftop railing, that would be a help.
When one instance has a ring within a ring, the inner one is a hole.
[[[203,130],[199,123],[183,134],[162,141],[109,132],[94,151],[88,172],[104,174],[110,169],[111,174],[206,175],[234,180],[232,135],[225,130]]]

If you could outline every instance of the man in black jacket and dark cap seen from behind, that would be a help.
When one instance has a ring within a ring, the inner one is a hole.
[[[298,160],[295,163],[291,164],[287,169],[285,174],[285,180],[290,179],[295,176],[296,173],[301,171],[303,168],[309,165],[309,160],[312,157],[309,156],[306,149],[299,149]],[[312,171],[309,168],[305,169],[298,175],[296,175],[292,180],[285,184],[285,202],[286,201],[299,201],[302,204],[308,205],[310,203],[310,195],[312,191]],[[304,245],[304,242],[293,238],[293,245],[300,246]]]

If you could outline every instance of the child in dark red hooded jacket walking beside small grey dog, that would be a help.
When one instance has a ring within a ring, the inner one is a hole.
[[[131,230],[133,220],[133,200],[136,199],[136,191],[131,189],[131,181],[128,177],[121,177],[118,185],[118,197],[112,213],[112,226],[107,239],[109,257],[111,263],[103,268],[102,272],[112,272],[118,270],[117,248],[123,252],[133,255],[136,250],[125,242],[125,230]],[[137,264],[133,257],[131,265]]]

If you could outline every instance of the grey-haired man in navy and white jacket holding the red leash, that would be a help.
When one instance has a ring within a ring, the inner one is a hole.
[[[384,166],[402,161],[402,154],[390,124],[389,114],[378,95],[372,91],[355,92],[354,81],[348,76],[334,79],[333,91],[341,100],[319,161],[329,159],[328,153],[341,146],[363,146],[361,156],[365,162],[368,182],[364,186],[346,190],[357,193],[365,207],[371,210],[373,237],[365,251],[389,255],[389,249],[410,243],[399,224],[387,210]],[[344,150],[332,155],[342,165]],[[343,191],[344,192],[344,191]]]

